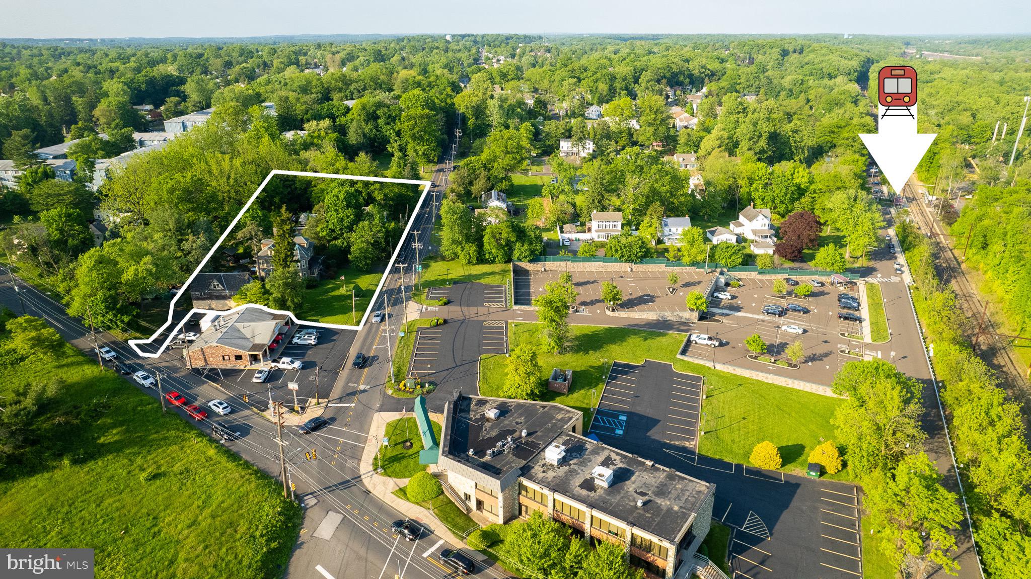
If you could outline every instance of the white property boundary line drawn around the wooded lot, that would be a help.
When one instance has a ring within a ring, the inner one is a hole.
[[[161,344],[161,347],[158,348],[157,352],[153,352],[152,353],[152,352],[142,351],[136,345],[136,344],[149,344],[149,343],[153,343],[154,340],[155,340],[155,338],[157,338],[159,334],[161,334],[162,332],[165,331],[165,329],[167,329],[169,326],[171,326],[172,318],[175,315],[175,302],[177,302],[179,300],[179,298],[182,297],[182,295],[186,293],[186,290],[190,286],[190,283],[192,283],[193,280],[194,280],[194,278],[197,277],[197,274],[200,273],[201,268],[203,268],[204,265],[207,264],[208,260],[211,259],[211,256],[213,256],[214,252],[219,249],[219,247],[222,246],[222,243],[229,236],[229,233],[231,231],[233,231],[233,229],[236,227],[236,224],[240,220],[240,217],[242,217],[243,214],[246,213],[247,209],[251,208],[251,205],[255,202],[256,199],[258,199],[258,196],[261,194],[262,190],[264,190],[265,185],[268,184],[268,181],[271,180],[272,177],[275,176],[275,175],[293,175],[293,176],[297,176],[297,177],[323,177],[323,178],[330,178],[330,179],[354,179],[354,180],[358,180],[358,181],[378,181],[378,182],[385,182],[385,183],[404,183],[404,184],[412,184],[412,185],[422,185],[423,186],[423,194],[420,196],[419,202],[415,203],[414,209],[411,211],[411,214],[408,216],[408,223],[405,225],[404,233],[401,234],[401,239],[398,241],[397,247],[394,248],[394,253],[391,254],[390,263],[387,264],[387,269],[384,271],[383,277],[379,278],[379,284],[376,285],[376,291],[375,291],[374,294],[372,294],[372,300],[369,302],[369,305],[372,306],[372,305],[374,305],[376,303],[376,300],[379,298],[379,294],[383,291],[384,283],[387,282],[387,278],[390,276],[391,270],[394,269],[394,262],[397,261],[397,256],[401,251],[401,243],[405,239],[408,238],[408,234],[411,232],[411,226],[412,226],[412,224],[415,223],[415,217],[419,215],[419,211],[422,209],[423,203],[426,201],[426,196],[430,192],[430,185],[432,184],[432,181],[428,181],[428,180],[415,180],[415,179],[392,179],[390,177],[367,177],[367,176],[364,176],[364,175],[341,175],[339,173],[311,173],[311,172],[308,172],[308,171],[285,171],[285,170],[281,170],[281,169],[273,169],[265,177],[265,180],[263,180],[261,182],[261,184],[258,185],[258,189],[255,191],[254,195],[251,196],[251,199],[248,199],[247,202],[243,205],[243,208],[240,209],[239,214],[237,214],[236,217],[232,220],[232,223],[229,224],[229,227],[227,227],[226,230],[222,232],[222,236],[219,237],[219,241],[217,243],[214,243],[214,245],[211,246],[211,249],[208,250],[207,254],[204,256],[204,259],[201,260],[200,264],[197,266],[197,269],[195,269],[194,272],[192,274],[190,274],[190,277],[186,280],[186,282],[182,283],[182,286],[180,287],[180,291],[177,292],[175,294],[175,297],[172,298],[172,302],[170,304],[168,304],[168,319],[165,320],[165,323],[163,323],[161,326],[161,328],[157,329],[154,332],[154,334],[149,338],[146,338],[145,340],[129,340],[129,345],[132,347],[133,350],[136,351],[137,354],[139,354],[142,357],[158,357],[158,356],[160,356],[165,351],[165,348],[168,347],[168,344],[171,343],[172,338],[175,337],[176,333],[179,332],[182,329],[182,326],[187,322],[187,320],[190,319],[190,317],[193,314],[197,313],[197,312],[201,312],[201,313],[217,313],[219,315],[225,315],[227,313],[232,313],[232,312],[238,311],[238,310],[246,308],[246,307],[258,307],[258,308],[261,308],[261,309],[263,309],[263,310],[267,311],[267,312],[287,314],[295,322],[303,322],[303,323],[306,323],[308,326],[317,326],[317,327],[320,327],[320,328],[331,328],[331,329],[334,329],[334,330],[361,330],[362,327],[365,326],[365,320],[369,317],[369,313],[372,311],[372,307],[366,308],[365,313],[362,314],[362,320],[358,322],[358,326],[345,326],[345,325],[339,325],[339,323],[325,323],[325,322],[321,322],[321,321],[300,320],[300,319],[297,319],[297,316],[295,316],[293,312],[285,311],[285,310],[273,310],[273,309],[270,309],[270,308],[267,308],[265,306],[261,306],[261,305],[258,305],[258,304],[243,304],[242,306],[237,306],[237,307],[235,307],[235,308],[233,308],[231,310],[226,310],[226,311],[208,310],[208,309],[201,309],[201,308],[193,308],[193,309],[190,310],[189,313],[187,313],[186,316],[182,317],[182,321],[180,321],[175,327],[174,330],[172,330],[171,332],[168,333],[168,337],[165,339],[165,342],[163,344]]]

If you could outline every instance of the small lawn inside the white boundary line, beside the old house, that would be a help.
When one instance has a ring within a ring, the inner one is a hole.
[[[344,279],[340,279],[343,276]],[[333,279],[324,279],[319,285],[305,290],[304,305],[297,317],[323,323],[353,325],[362,320],[383,272],[360,272],[341,269]],[[355,293],[355,313],[352,315],[351,298]]]

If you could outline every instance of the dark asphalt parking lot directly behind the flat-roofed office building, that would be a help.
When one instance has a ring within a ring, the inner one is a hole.
[[[698,454],[692,420],[697,422],[702,389],[701,377],[666,363],[613,363],[590,433],[717,485],[712,516],[733,529],[732,577],[861,577],[855,485]]]

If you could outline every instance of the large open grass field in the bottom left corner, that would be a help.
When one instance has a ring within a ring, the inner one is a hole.
[[[301,524],[281,485],[63,347],[0,366],[8,411],[29,388],[58,388],[23,407],[44,425],[0,475],[0,545],[93,547],[98,578],[281,577]]]

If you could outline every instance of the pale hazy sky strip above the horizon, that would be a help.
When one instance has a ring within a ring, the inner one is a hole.
[[[1031,33],[1027,0],[0,0],[0,37]]]

